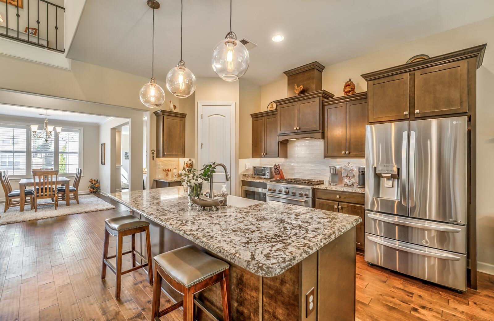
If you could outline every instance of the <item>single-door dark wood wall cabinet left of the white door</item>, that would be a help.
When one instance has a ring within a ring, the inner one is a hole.
[[[185,117],[181,112],[157,110],[156,157],[185,157]]]

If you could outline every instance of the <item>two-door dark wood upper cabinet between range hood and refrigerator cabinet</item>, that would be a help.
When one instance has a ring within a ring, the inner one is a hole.
[[[366,156],[367,93],[323,101],[324,157]]]

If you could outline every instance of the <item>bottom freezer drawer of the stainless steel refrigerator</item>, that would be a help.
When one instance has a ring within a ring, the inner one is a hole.
[[[466,291],[466,255],[365,234],[365,260],[419,279]]]

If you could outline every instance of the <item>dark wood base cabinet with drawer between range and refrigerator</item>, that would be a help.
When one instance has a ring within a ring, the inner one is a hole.
[[[315,189],[316,209],[356,215],[362,218],[362,222],[355,226],[355,247],[363,253],[365,249],[365,207],[364,194],[341,192],[336,190]]]

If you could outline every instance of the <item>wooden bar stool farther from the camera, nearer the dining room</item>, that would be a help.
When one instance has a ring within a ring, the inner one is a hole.
[[[139,251],[135,250],[135,234],[146,232],[146,259]],[[110,242],[110,234],[117,237],[117,254],[108,256],[108,244]],[[132,249],[122,252],[124,236],[131,235]],[[132,253],[132,268],[122,271],[122,256]],[[145,263],[137,265],[135,256],[139,256]],[[117,258],[117,267],[110,263],[109,259]],[[105,219],[105,240],[103,244],[103,264],[101,266],[101,279],[106,277],[106,267],[108,266],[115,273],[115,298],[120,298],[120,287],[122,284],[122,275],[135,271],[140,268],[148,267],[149,283],[153,284],[153,274],[151,273],[151,242],[149,236],[149,222],[143,221],[134,215],[124,215]]]

